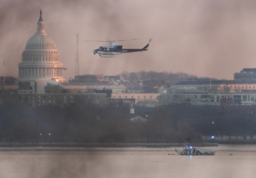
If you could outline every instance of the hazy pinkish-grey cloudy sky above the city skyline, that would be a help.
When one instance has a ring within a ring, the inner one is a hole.
[[[256,68],[255,0],[0,0],[0,76],[18,77],[18,63],[37,29],[42,9],[46,33],[60,60],[75,75],[76,33],[80,74],[122,71],[185,72],[233,79],[242,68]],[[147,52],[100,58],[92,50],[107,43],[83,40],[140,39],[119,42]]]

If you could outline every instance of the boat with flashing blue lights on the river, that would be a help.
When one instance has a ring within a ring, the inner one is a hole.
[[[205,150],[199,147],[184,147],[183,151],[177,151],[179,155],[215,155],[216,150]]]

